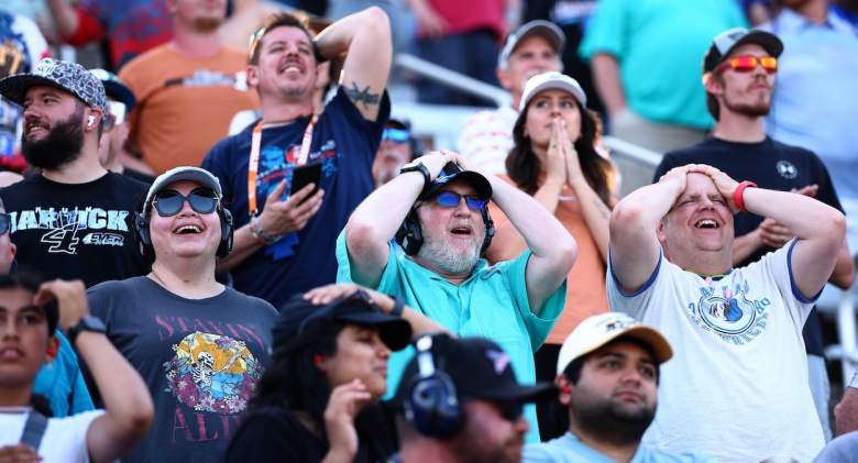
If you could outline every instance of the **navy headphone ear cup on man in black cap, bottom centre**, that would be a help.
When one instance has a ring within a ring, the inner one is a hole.
[[[406,419],[424,436],[449,439],[459,432],[462,410],[455,386],[444,372],[416,378],[404,406]]]

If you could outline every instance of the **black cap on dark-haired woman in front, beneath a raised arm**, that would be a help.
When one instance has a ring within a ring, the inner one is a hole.
[[[299,294],[280,308],[280,317],[273,330],[275,349],[301,345],[331,321],[376,327],[380,338],[392,351],[405,349],[411,339],[408,321],[382,312],[363,290],[321,306],[314,305]]]

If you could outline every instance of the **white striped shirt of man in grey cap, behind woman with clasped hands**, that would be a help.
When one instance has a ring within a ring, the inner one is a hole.
[[[506,174],[516,119],[518,111],[510,106],[474,113],[462,126],[459,154],[484,174]]]

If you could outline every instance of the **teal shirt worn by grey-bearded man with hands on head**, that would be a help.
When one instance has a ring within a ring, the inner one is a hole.
[[[530,257],[526,251],[514,261],[490,266],[480,260],[471,276],[457,286],[408,258],[391,243],[387,266],[375,288],[397,295],[413,309],[460,337],[483,337],[497,342],[509,354],[513,371],[521,384],[536,383],[534,352],[542,345],[566,299],[565,282],[546,300],[539,316],[530,310],[525,271]],[[351,282],[351,264],[345,232],[337,239],[337,282]],[[388,396],[396,390],[413,350],[394,352],[387,364]],[[526,407],[530,422],[528,442],[538,442],[536,408]]]

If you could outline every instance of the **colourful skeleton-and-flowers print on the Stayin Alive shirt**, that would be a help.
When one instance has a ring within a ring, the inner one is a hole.
[[[244,411],[262,376],[262,365],[244,341],[195,331],[173,345],[164,362],[167,390],[196,411]]]

